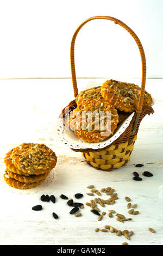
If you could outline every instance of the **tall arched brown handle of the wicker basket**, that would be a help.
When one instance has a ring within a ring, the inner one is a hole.
[[[142,104],[143,104],[143,98],[144,98],[144,94],[145,94],[145,85],[146,85],[146,57],[145,57],[145,52],[143,50],[142,44],[139,40],[139,38],[137,37],[137,35],[134,33],[134,31],[132,31],[132,29],[130,29],[126,24],[124,24],[122,21],[117,20],[114,17],[110,17],[110,16],[95,16],[95,17],[90,17],[89,19],[85,20],[76,30],[76,32],[73,34],[72,40],[71,40],[71,50],[70,50],[70,59],[71,59],[71,74],[72,74],[72,84],[73,84],[73,91],[74,91],[74,96],[76,97],[78,95],[78,87],[77,87],[77,78],[76,78],[76,69],[75,69],[75,65],[74,65],[74,44],[76,41],[76,37],[78,32],[80,31],[80,29],[89,21],[91,20],[98,20],[98,19],[103,19],[103,20],[110,20],[110,21],[114,21],[115,24],[120,25],[121,27],[125,28],[128,33],[133,36],[137,46],[139,47],[139,51],[140,51],[140,56],[141,56],[141,63],[142,63],[142,78],[141,78],[141,90],[140,90],[140,96],[139,96],[139,102],[137,105],[137,118],[139,120],[139,115],[142,111]],[[137,120],[137,121],[138,121]],[[133,129],[136,130],[136,122],[135,121],[135,127]]]

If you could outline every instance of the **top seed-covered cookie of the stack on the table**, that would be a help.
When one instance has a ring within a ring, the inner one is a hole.
[[[5,166],[20,175],[40,175],[49,173],[57,157],[45,144],[23,143],[5,155]]]

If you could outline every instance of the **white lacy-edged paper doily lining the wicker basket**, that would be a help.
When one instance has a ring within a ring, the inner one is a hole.
[[[103,149],[106,146],[114,142],[121,134],[127,129],[130,124],[130,121],[134,117],[134,112],[129,115],[129,117],[122,122],[116,129],[116,132],[110,138],[104,139],[102,142],[89,143],[85,142],[82,139],[78,138],[71,130],[65,130],[65,125],[63,124],[63,119],[59,118],[57,123],[57,140],[64,143],[67,148],[72,149]]]

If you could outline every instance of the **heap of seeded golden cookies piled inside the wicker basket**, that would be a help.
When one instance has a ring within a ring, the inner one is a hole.
[[[83,141],[103,141],[113,135],[117,125],[130,113],[136,111],[139,95],[140,87],[133,83],[108,80],[102,86],[84,90],[77,95],[77,108],[67,117],[66,124]],[[151,107],[152,104],[151,95],[145,92],[143,108]],[[84,115],[85,112],[89,114]],[[107,119],[108,112],[110,119]]]

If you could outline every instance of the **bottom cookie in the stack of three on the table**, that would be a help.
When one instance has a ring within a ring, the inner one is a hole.
[[[4,180],[7,182],[7,184],[10,187],[19,188],[21,190],[26,190],[27,188],[32,188],[40,185],[44,180],[40,180],[39,182],[33,182],[33,183],[23,183],[18,180],[15,180],[13,178],[10,178],[10,176],[5,172],[4,174]]]

